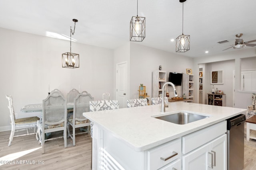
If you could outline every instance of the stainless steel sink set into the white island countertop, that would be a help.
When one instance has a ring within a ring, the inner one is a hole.
[[[208,116],[198,115],[198,114],[188,113],[188,112],[179,112],[179,113],[159,116],[159,117],[155,117],[155,118],[161,119],[161,120],[164,120],[164,121],[168,121],[168,122],[171,122],[171,123],[176,123],[176,124],[179,124],[179,125],[184,125],[184,124],[187,124],[187,123],[191,123],[193,121],[198,121],[198,120],[201,120],[201,119],[205,119],[206,117],[208,117]]]

